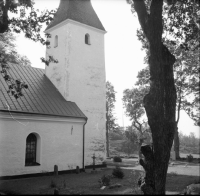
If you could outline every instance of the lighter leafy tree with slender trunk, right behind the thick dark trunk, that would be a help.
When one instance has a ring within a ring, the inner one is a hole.
[[[138,37],[142,41],[143,49],[147,49],[147,40],[141,39],[141,31],[138,31]],[[174,151],[176,158],[180,158],[179,155],[179,132],[178,123],[180,119],[180,111],[184,110],[189,117],[191,117],[195,124],[198,125],[200,121],[199,115],[199,50],[198,48],[188,49],[185,51],[181,47],[177,47],[177,43],[171,42],[165,39],[165,45],[169,48],[170,52],[176,57],[174,64],[174,76],[175,86],[177,90],[176,101],[176,131],[174,135]],[[148,58],[148,51],[146,50],[146,59]],[[141,70],[138,74],[137,85],[145,85],[149,87],[149,68]]]

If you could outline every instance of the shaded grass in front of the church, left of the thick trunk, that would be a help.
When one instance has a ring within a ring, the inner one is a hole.
[[[104,174],[112,174],[112,169],[103,169],[97,173],[65,174],[55,176],[43,176],[26,179],[2,180],[0,181],[0,192],[14,195],[32,195],[32,194],[53,194],[54,189],[59,189],[59,194],[119,194],[126,192],[127,189],[133,189],[134,176],[131,176],[130,170],[123,170],[125,177],[123,179],[112,178],[111,185],[121,184],[122,187],[115,189],[100,189],[98,179]],[[139,172],[137,172],[139,174]]]

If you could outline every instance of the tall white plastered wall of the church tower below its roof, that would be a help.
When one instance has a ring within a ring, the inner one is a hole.
[[[47,55],[59,63],[46,66],[46,75],[67,101],[75,102],[88,117],[86,124],[86,163],[97,143],[105,148],[106,79],[104,58],[104,31],[74,21],[52,28],[49,33],[51,48]],[[90,35],[91,45],[85,44],[85,34]],[[58,47],[54,38],[58,35]],[[94,142],[96,144],[92,144]],[[96,151],[105,158],[105,149]]]

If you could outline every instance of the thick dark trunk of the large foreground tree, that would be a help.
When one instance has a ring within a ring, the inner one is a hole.
[[[162,43],[162,5],[162,0],[152,0],[148,14],[144,1],[134,0],[134,8],[149,42],[150,52],[150,91],[144,97],[144,107],[152,132],[153,146],[152,155],[149,150],[149,155],[143,153],[146,178],[141,184],[141,190],[144,194],[165,194],[176,125],[176,89],[173,77],[175,58]]]

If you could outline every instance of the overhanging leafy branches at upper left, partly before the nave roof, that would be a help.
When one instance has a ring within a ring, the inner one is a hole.
[[[49,45],[49,41],[41,36],[43,24],[48,25],[53,19],[55,10],[44,11],[34,9],[32,0],[0,0],[0,33],[6,32],[23,32],[25,37],[33,41],[39,41],[44,45]],[[2,35],[1,35],[2,36]],[[48,38],[50,35],[47,34]],[[50,62],[57,62],[52,56],[48,59],[41,58],[42,62],[49,65]],[[20,64],[29,63],[26,57],[21,57]],[[1,73],[5,81],[8,83],[8,92],[11,92],[16,99],[23,96],[22,90],[28,88],[22,79],[14,79],[9,74],[10,64],[4,55],[0,57]]]

